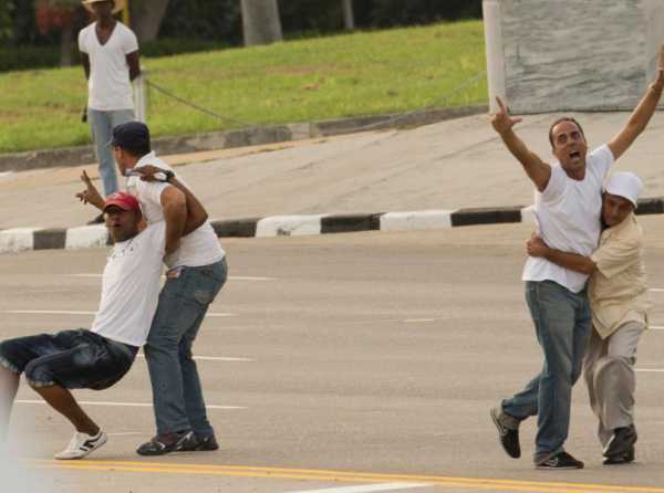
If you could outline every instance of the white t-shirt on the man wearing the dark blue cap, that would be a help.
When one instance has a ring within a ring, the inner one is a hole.
[[[153,165],[157,168],[173,171],[173,168],[159,159],[154,151],[143,156],[134,168],[145,165]],[[178,181],[190,189],[178,175],[176,177]],[[141,201],[143,216],[148,224],[164,221],[162,192],[167,187],[172,187],[172,185],[143,181],[139,177],[129,177],[127,180],[127,191]],[[226,253],[219,244],[219,239],[212,225],[209,221],[205,221],[200,228],[180,239],[179,249],[174,255],[168,256],[166,263],[169,268],[199,268],[219,262],[225,255]]]

